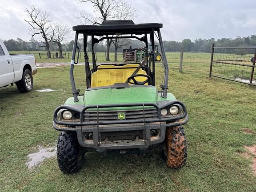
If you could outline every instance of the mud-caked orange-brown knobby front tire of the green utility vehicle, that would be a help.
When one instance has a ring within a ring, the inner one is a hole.
[[[187,140],[183,127],[166,129],[163,156],[168,168],[184,166],[187,160]]]

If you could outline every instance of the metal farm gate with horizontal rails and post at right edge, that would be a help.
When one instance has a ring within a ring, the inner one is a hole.
[[[256,47],[214,47],[209,77],[256,85]]]

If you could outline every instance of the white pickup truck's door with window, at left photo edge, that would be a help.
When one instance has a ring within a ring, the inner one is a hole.
[[[0,87],[13,83],[12,59],[0,44]]]

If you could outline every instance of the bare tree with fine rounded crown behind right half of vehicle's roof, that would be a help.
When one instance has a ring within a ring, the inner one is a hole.
[[[125,1],[120,0],[112,10],[112,17],[116,18],[117,20],[136,19],[136,8],[133,8],[132,4],[128,4]],[[129,41],[116,38],[112,40],[112,42],[115,46],[115,61],[117,61],[117,49],[122,48]]]

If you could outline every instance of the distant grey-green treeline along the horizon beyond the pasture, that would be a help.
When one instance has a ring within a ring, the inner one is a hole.
[[[73,40],[67,43],[62,44],[63,51],[72,51]],[[210,52],[212,43],[215,43],[215,46],[256,46],[256,35],[248,37],[237,37],[236,39],[231,38],[222,38],[215,40],[214,38],[208,40],[196,39],[192,42],[190,39],[184,39],[182,42],[164,40],[164,48],[166,52],[178,52],[181,48],[184,48],[184,51],[194,51],[194,52]],[[20,38],[16,40],[4,40],[4,44],[10,51],[45,51],[44,47],[41,47],[42,42],[36,40],[24,41]],[[138,40],[126,40],[125,48],[139,48],[143,47],[144,43]],[[83,40],[79,39],[78,46],[83,51]],[[50,43],[51,51],[57,51],[58,48],[56,44]],[[105,52],[106,44],[100,42],[95,45],[94,50],[96,52]],[[91,51],[91,41],[89,40],[87,51]],[[114,52],[114,46],[111,44],[110,52]],[[122,48],[119,49],[119,52],[122,52]]]

